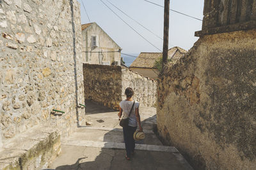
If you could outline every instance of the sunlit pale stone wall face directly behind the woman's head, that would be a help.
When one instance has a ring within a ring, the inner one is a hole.
[[[134,73],[122,67],[122,99],[126,99],[125,89],[131,87],[134,90],[134,99],[142,106],[156,106],[157,81]]]

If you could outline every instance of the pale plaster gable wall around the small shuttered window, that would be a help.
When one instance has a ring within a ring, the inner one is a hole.
[[[116,43],[109,38],[109,36],[100,27],[93,24],[92,27],[82,31],[83,35],[83,51],[88,51],[86,62],[90,64],[101,64],[102,61],[110,61],[110,64],[114,61],[118,61],[120,65],[121,53],[116,52],[119,47]],[[92,35],[99,36],[99,47],[92,48]],[[87,45],[87,48],[86,48]],[[102,53],[90,53],[90,52],[102,52]],[[83,57],[86,58],[86,53],[83,53]],[[100,58],[99,58],[100,57]]]

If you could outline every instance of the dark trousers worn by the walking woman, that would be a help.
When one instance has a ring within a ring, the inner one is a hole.
[[[131,153],[134,152],[135,141],[133,139],[133,134],[136,131],[137,127],[123,127],[124,133],[124,143],[127,157],[131,157]]]

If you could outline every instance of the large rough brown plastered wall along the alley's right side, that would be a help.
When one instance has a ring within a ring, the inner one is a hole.
[[[159,134],[196,169],[256,169],[255,39],[204,36],[160,77]]]

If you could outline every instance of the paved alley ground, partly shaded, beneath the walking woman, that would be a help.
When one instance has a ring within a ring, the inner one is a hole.
[[[62,152],[50,169],[192,169],[174,147],[163,146],[153,132],[156,108],[140,107],[146,137],[136,144],[131,161],[125,156],[122,129],[116,111],[86,103],[91,126],[80,127],[61,139]]]

